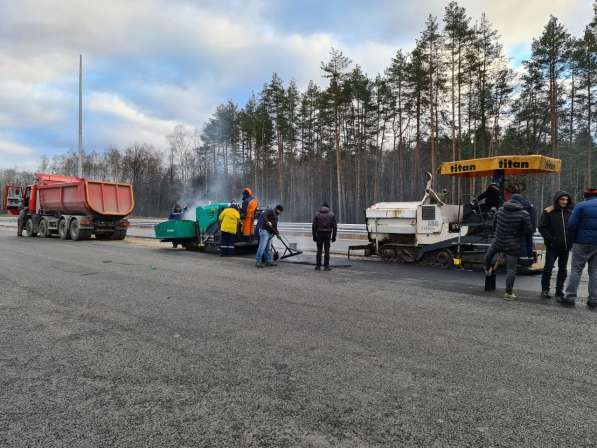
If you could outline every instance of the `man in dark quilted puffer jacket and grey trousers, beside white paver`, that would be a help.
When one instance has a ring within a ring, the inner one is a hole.
[[[532,233],[531,217],[523,208],[520,195],[504,203],[497,212],[496,238],[485,256],[485,274],[491,275],[494,259],[499,253],[506,255],[506,293],[504,300],[516,300],[514,281],[523,236]]]

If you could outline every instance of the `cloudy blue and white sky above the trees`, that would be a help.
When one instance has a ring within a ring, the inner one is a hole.
[[[412,49],[436,0],[0,0],[0,169],[36,169],[77,148],[78,59],[84,148],[167,147],[182,124],[243,104],[277,72],[321,80],[332,47],[375,75]],[[549,15],[579,35],[592,0],[463,0],[486,13],[514,67]]]

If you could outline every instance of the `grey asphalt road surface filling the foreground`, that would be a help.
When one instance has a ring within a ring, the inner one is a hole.
[[[333,261],[0,230],[0,446],[595,446],[584,303]]]

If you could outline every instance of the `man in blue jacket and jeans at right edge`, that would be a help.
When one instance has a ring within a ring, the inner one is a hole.
[[[597,307],[597,188],[585,190],[585,200],[576,206],[568,220],[572,246],[572,267],[566,284],[566,295],[560,299],[574,305],[580,276],[589,264],[588,307]]]

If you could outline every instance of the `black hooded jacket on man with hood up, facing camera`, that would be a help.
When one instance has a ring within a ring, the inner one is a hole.
[[[566,208],[560,207],[559,204],[559,200],[563,196],[568,197],[568,206]],[[558,191],[553,197],[553,205],[543,210],[539,220],[539,232],[547,247],[558,250],[570,250],[572,248],[567,226],[573,207],[570,195],[565,191]]]

